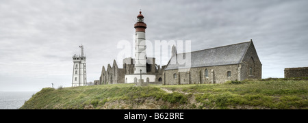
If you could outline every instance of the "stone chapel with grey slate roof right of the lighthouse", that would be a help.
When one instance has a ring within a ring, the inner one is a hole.
[[[190,66],[179,64],[189,56],[190,63],[185,65]],[[163,83],[180,85],[261,79],[261,66],[252,40],[190,53],[177,54],[172,48],[172,57],[163,73]]]

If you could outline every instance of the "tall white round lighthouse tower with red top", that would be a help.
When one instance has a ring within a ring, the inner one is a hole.
[[[137,23],[134,25],[136,29],[136,42],[135,42],[135,74],[146,74],[146,38],[144,23],[144,16],[139,12],[137,16]]]

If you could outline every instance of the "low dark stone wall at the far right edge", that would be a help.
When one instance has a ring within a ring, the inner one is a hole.
[[[285,68],[285,78],[308,77],[308,67]]]

